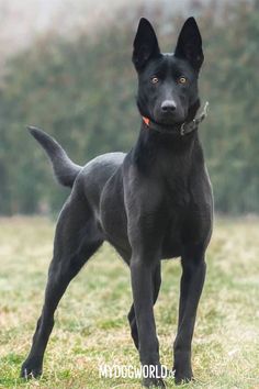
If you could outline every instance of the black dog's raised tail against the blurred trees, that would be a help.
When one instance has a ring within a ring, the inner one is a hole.
[[[44,131],[33,126],[29,131],[47,153],[58,182],[71,188],[82,167],[74,164],[57,141]]]

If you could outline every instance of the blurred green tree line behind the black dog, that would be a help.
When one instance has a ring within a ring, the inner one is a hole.
[[[210,101],[200,134],[223,213],[259,212],[258,4],[236,2],[221,19],[207,8],[198,18],[205,53],[200,95]],[[49,33],[8,62],[0,86],[1,214],[57,210],[68,193],[54,184],[27,124],[54,135],[79,164],[133,146],[140,119],[131,55],[143,10],[127,11],[91,36]],[[148,16],[161,48],[173,51],[183,20],[165,20],[159,9]]]

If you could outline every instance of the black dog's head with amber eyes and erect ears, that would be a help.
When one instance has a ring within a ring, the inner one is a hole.
[[[195,114],[203,52],[193,18],[183,24],[173,54],[160,52],[151,24],[142,18],[134,40],[133,63],[138,74],[137,105],[143,116],[170,126],[184,122],[193,110]]]

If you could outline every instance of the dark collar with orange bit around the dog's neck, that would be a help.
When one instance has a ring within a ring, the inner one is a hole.
[[[184,135],[190,134],[191,132],[198,130],[199,124],[207,115],[207,107],[209,107],[209,102],[206,101],[200,115],[195,116],[190,122],[183,122],[181,124],[177,124],[173,126],[173,129],[169,125],[158,124],[146,116],[143,116],[143,122],[144,122],[144,125],[147,130],[154,130],[154,131],[160,132],[162,134],[168,134],[168,135],[172,134],[172,135],[184,136]]]

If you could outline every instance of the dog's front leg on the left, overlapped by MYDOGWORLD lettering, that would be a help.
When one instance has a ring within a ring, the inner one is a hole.
[[[165,388],[159,362],[159,344],[154,318],[154,273],[159,258],[149,253],[133,251],[131,260],[132,289],[136,314],[143,385]],[[148,374],[147,374],[148,371]]]

